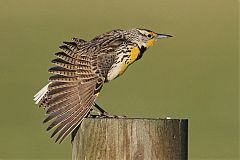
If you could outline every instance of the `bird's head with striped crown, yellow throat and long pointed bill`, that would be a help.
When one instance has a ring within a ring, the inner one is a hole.
[[[156,33],[148,29],[134,28],[127,32],[126,36],[131,42],[136,43],[139,48],[145,49],[152,47],[159,39],[172,37],[171,35]]]

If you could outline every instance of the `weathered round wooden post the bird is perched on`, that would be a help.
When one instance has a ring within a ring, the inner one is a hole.
[[[86,118],[72,160],[187,160],[186,119]]]

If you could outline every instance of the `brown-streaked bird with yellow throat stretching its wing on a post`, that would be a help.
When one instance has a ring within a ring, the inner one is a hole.
[[[95,103],[104,83],[121,76],[156,41],[168,37],[172,36],[131,28],[111,30],[90,41],[64,41],[51,61],[49,83],[34,96],[35,103],[46,111],[43,123],[51,122],[47,131],[55,128],[51,138],[58,134],[55,142],[61,143],[93,107],[110,117]]]

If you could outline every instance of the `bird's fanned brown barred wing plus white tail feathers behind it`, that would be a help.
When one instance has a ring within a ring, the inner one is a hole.
[[[56,53],[56,65],[49,69],[54,75],[50,83],[35,95],[36,103],[46,109],[47,118],[52,123],[47,131],[55,128],[51,137],[56,135],[60,143],[81,123],[89,113],[95,99],[96,90],[102,86],[102,79],[95,73],[96,60],[92,54],[80,53],[83,40],[64,42],[62,52]]]

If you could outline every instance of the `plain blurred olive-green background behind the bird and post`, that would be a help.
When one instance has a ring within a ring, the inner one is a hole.
[[[237,0],[0,0],[0,159],[71,159],[32,101],[64,40],[111,29],[171,34],[98,102],[129,117],[189,119],[189,159],[238,159]]]

